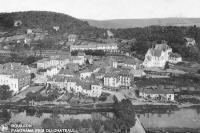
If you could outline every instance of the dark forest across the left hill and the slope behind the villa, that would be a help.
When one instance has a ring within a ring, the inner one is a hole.
[[[22,24],[16,27],[14,22],[17,20],[20,20]],[[57,32],[53,29],[54,26],[59,26]],[[106,38],[106,29],[90,26],[86,21],[61,13],[28,11],[0,14],[0,31],[12,32],[28,28],[47,30],[54,38],[53,41],[47,40],[46,44],[48,45],[53,45],[55,39],[65,33],[75,33],[86,38]],[[120,45],[120,49],[124,51],[135,52],[144,56],[153,44],[165,40],[172,47],[173,52],[181,54],[185,59],[200,62],[200,28],[195,25],[190,27],[149,26],[111,29],[111,31],[114,33],[115,38],[129,40],[127,43],[121,43],[122,45]],[[194,38],[197,45],[186,47],[184,37]]]

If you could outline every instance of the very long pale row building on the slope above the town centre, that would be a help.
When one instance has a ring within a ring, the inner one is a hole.
[[[85,50],[103,50],[109,52],[118,52],[117,43],[97,43],[88,42],[86,44],[71,45],[70,51],[85,51]]]

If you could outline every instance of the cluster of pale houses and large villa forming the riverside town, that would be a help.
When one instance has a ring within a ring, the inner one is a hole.
[[[27,29],[27,35],[35,30]],[[111,34],[110,31],[108,33]],[[0,84],[9,86],[13,92],[13,102],[25,99],[30,93],[41,96],[41,99],[31,100],[43,101],[44,97],[54,91],[56,96],[52,101],[66,103],[91,103],[99,99],[104,100],[100,100],[101,102],[113,102],[114,96],[118,100],[131,99],[133,104],[138,101],[144,101],[144,104],[148,101],[153,101],[152,104],[178,102],[177,90],[181,91],[182,88],[140,88],[137,82],[140,79],[170,78],[186,74],[182,70],[172,68],[183,61],[181,55],[173,53],[167,42],[162,41],[149,48],[145,59],[141,60],[121,51],[112,36],[108,38],[110,42],[102,43],[79,40],[78,35],[69,34],[65,42],[69,44],[69,51],[29,51],[29,56],[34,55],[39,60],[29,65],[16,62],[1,64]],[[26,42],[26,38],[7,38],[16,43],[23,39],[23,42]],[[195,45],[195,42],[187,42],[185,45]],[[1,51],[2,56],[11,54],[14,53],[5,48]],[[195,88],[188,89],[195,91]]]

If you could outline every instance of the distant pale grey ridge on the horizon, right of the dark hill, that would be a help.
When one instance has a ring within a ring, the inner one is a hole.
[[[113,19],[86,20],[92,26],[99,28],[135,28],[151,25],[159,26],[200,26],[200,18],[153,18],[153,19]]]

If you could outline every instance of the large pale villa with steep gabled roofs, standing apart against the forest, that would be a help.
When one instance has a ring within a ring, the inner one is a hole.
[[[150,48],[143,62],[144,67],[160,67],[164,68],[166,62],[178,63],[181,62],[182,58],[179,56],[174,56],[172,54],[172,48],[166,43],[156,44],[154,48]]]

